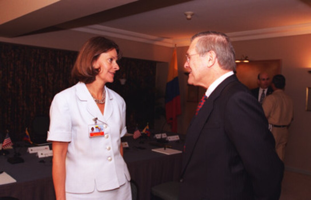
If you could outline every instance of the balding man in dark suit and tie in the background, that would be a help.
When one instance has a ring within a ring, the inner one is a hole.
[[[270,86],[270,77],[266,72],[259,73],[257,76],[257,88],[251,90],[252,94],[260,104],[262,104],[263,99],[273,92]]]

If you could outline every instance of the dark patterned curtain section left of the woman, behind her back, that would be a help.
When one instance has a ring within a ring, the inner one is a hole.
[[[77,52],[0,43],[0,131],[21,140],[35,116],[49,115],[56,93],[72,86]]]

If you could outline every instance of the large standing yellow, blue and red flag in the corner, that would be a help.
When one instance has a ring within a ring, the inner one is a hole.
[[[165,91],[166,121],[171,125],[172,132],[177,132],[177,116],[181,114],[179,82],[177,70],[177,52],[174,48],[173,57],[169,65]]]

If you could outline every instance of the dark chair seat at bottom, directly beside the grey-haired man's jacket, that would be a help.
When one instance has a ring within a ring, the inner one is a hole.
[[[151,188],[151,194],[154,200],[178,200],[179,182],[170,181],[162,183]]]

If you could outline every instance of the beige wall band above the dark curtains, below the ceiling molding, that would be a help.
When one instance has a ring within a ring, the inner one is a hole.
[[[94,36],[97,35],[73,30],[60,30],[16,38],[0,37],[0,41],[79,51],[83,43],[86,42],[87,39]],[[133,42],[119,38],[107,38],[114,40],[123,52],[123,56],[128,58],[169,62],[173,52],[173,49],[170,47],[163,47],[143,42]]]

